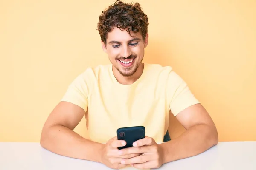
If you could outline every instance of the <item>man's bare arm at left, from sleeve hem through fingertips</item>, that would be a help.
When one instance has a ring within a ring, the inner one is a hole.
[[[73,129],[84,116],[84,109],[70,102],[60,102],[49,115],[41,134],[40,144],[53,153],[105,164],[107,167],[120,169],[126,165],[120,164],[122,159],[128,159],[140,154],[120,156],[118,147],[124,146],[122,140],[116,137],[100,144],[78,135]]]

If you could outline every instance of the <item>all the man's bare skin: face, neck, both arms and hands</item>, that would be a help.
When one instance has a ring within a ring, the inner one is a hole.
[[[134,38],[138,39],[130,41]],[[126,31],[118,28],[108,34],[106,44],[102,42],[102,48],[113,64],[113,73],[119,83],[131,84],[140,77],[143,72],[141,62],[144,48],[147,45],[148,34],[143,40],[140,33],[131,37]],[[123,67],[118,61],[131,57],[135,58],[129,68]],[[145,139],[135,142],[133,147],[122,150],[117,148],[125,145],[125,141],[117,140],[116,136],[106,144],[100,144],[75,133],[73,129],[84,115],[85,111],[79,106],[60,102],[45,122],[41,133],[41,146],[53,153],[100,162],[113,169],[120,169],[129,164],[144,169],[158,168],[170,161],[195,156],[218,143],[216,127],[201,104],[192,105],[176,116],[187,129],[177,139],[157,144],[154,139],[146,136]]]

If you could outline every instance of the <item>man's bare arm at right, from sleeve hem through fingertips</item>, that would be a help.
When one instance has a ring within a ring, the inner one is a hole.
[[[134,142],[134,146],[120,150],[120,155],[144,153],[122,164],[132,164],[139,169],[159,168],[162,164],[198,155],[218,143],[218,133],[212,119],[201,104],[192,105],[181,111],[177,119],[187,129],[177,139],[157,144],[145,137]]]

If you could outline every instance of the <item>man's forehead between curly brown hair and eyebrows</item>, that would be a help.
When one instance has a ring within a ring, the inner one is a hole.
[[[107,43],[110,41],[127,42],[134,38],[142,39],[142,35],[140,34],[140,32],[134,33],[131,31],[130,34],[126,31],[126,29],[120,30],[120,28],[115,27],[110,32],[108,32]]]

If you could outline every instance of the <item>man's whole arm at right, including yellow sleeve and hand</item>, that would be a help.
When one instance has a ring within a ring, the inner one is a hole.
[[[216,127],[186,82],[175,72],[170,72],[167,82],[169,110],[186,128],[177,139],[157,144],[146,136],[125,148],[120,154],[143,153],[131,159],[123,159],[122,164],[132,164],[135,168],[159,168],[162,164],[195,156],[218,143]]]

